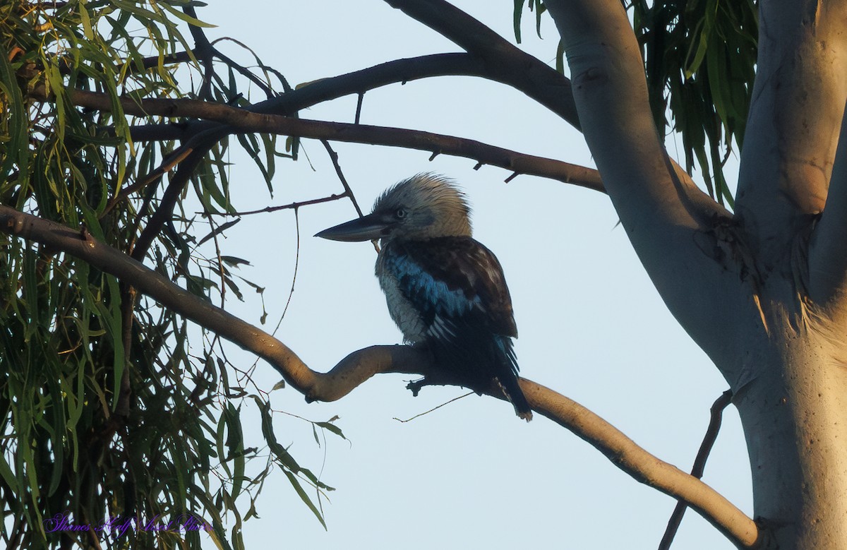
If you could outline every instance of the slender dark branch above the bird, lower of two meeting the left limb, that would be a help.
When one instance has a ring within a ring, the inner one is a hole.
[[[67,93],[70,102],[77,106],[104,111],[109,111],[112,108],[111,101],[106,94],[81,90],[69,90]],[[47,99],[43,96],[41,98]],[[400,128],[295,119],[275,114],[257,114],[241,108],[220,103],[206,103],[195,99],[134,100],[130,97],[122,97],[120,101],[125,114],[135,116],[158,115],[172,118],[188,117],[213,120],[230,126],[229,133],[265,132],[336,142],[407,147],[429,151],[430,153],[473,158],[482,164],[499,166],[520,174],[540,175],[596,191],[603,189],[600,176],[594,169],[563,163],[551,158],[515,153],[501,147],[492,147],[482,142],[454,136]]]

